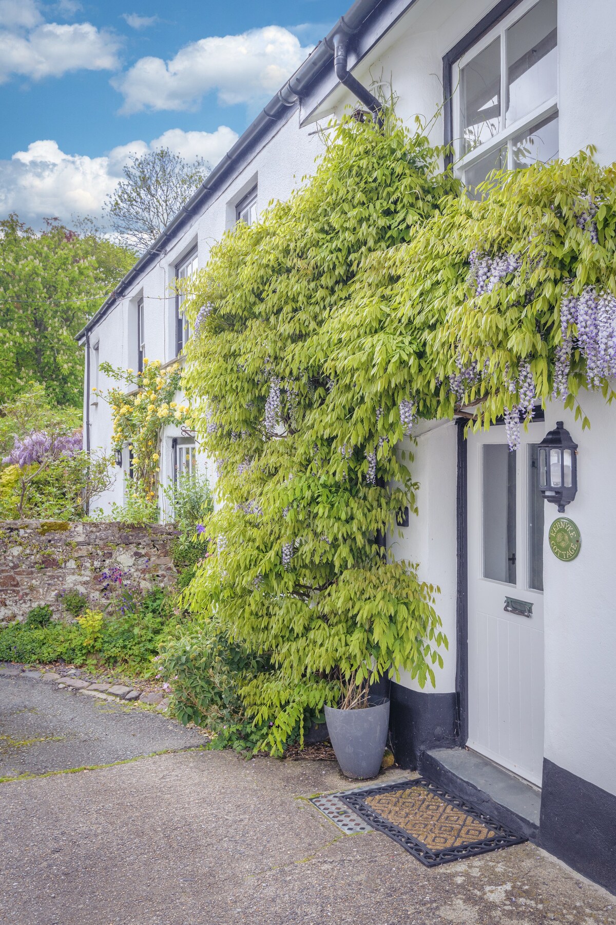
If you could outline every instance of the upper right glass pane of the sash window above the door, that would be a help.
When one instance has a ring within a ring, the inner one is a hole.
[[[507,114],[511,125],[556,96],[556,0],[539,0],[507,30]]]

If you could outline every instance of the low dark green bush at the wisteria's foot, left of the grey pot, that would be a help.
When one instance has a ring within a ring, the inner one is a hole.
[[[180,722],[205,727],[214,748],[257,746],[262,734],[248,720],[237,678],[256,675],[263,662],[230,642],[215,617],[181,627],[163,642],[156,662],[165,687],[173,688]]]

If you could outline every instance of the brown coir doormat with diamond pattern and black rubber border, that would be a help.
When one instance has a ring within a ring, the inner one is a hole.
[[[422,777],[340,797],[373,829],[389,835],[426,867],[525,842]]]

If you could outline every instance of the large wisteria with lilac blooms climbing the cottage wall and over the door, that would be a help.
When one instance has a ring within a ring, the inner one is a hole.
[[[587,426],[579,389],[614,397],[616,168],[589,152],[503,171],[473,202],[441,154],[391,112],[382,130],[344,120],[185,303],[189,424],[220,506],[184,601],[267,654],[238,680],[274,750],[350,684],[402,668],[434,684],[438,588],[380,545],[415,511],[417,418],[472,405],[468,426],[502,415],[515,447],[534,399]]]

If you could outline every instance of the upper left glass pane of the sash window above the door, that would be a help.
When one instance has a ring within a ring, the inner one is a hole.
[[[460,71],[463,154],[501,128],[501,39],[494,39]]]

